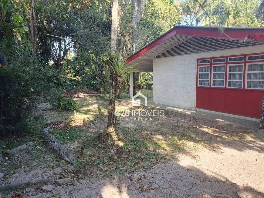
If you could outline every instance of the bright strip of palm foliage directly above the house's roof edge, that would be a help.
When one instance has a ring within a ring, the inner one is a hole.
[[[199,2],[199,3],[198,3]],[[188,25],[261,27],[263,0],[177,0]]]

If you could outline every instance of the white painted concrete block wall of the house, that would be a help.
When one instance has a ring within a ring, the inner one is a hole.
[[[195,108],[197,59],[258,52],[264,52],[262,45],[154,59],[153,102]]]

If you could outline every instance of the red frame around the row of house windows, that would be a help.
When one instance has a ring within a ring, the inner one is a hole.
[[[245,88],[245,81],[246,81],[246,64],[247,63],[254,63],[254,62],[263,62],[264,60],[247,60],[247,56],[252,56],[252,55],[263,55],[264,52],[259,52],[259,53],[253,53],[253,54],[236,54],[236,55],[227,55],[227,56],[215,56],[215,57],[205,57],[205,58],[200,58],[197,59],[197,65],[196,65],[196,88],[207,88],[207,89],[234,89],[234,90],[252,90],[252,91],[262,91],[264,89],[250,89],[250,88]],[[228,58],[231,57],[244,57],[244,61],[234,61],[234,62],[228,62]],[[221,63],[213,63],[213,59],[220,59],[220,58],[225,58],[225,62],[221,62]],[[200,60],[208,60],[210,59],[210,63],[203,63],[203,64],[199,64]],[[228,65],[232,65],[232,64],[243,64],[243,79],[242,79],[242,88],[233,88],[233,87],[227,87],[227,83],[228,83]],[[209,74],[209,86],[199,86],[198,85],[198,81],[199,81],[199,66],[209,66],[210,65],[210,74]],[[225,84],[224,87],[213,87],[212,86],[212,66],[214,65],[225,65]]]

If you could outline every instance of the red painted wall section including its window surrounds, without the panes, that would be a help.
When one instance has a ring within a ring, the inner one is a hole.
[[[256,53],[256,54],[263,54]],[[252,54],[252,55],[256,55]],[[251,55],[251,54],[250,54]],[[245,72],[246,63],[248,62],[263,62],[263,61],[246,61],[247,55],[235,55],[244,56],[243,62],[237,62],[239,64],[244,64],[243,71],[243,88],[228,88],[226,86],[227,81],[227,65],[235,64],[236,62],[228,63],[228,56],[222,56],[221,58],[226,58],[225,64],[225,87],[216,88],[212,87],[212,71],[210,71],[210,86],[201,87],[198,86],[198,81],[196,83],[196,107],[201,109],[208,109],[212,111],[225,112],[240,116],[259,118],[261,114],[261,100],[264,96],[264,90],[262,89],[245,89]],[[230,57],[230,56],[229,56]],[[213,57],[220,58],[220,57]],[[211,59],[210,70],[212,70],[212,57],[203,58]],[[198,78],[198,65],[199,60],[197,60],[197,78]],[[201,65],[201,64],[200,64]],[[209,64],[207,64],[209,65]]]

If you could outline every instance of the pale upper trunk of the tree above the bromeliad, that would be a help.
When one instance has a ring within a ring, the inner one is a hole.
[[[117,25],[118,25],[118,0],[113,0],[112,6],[112,27],[111,27],[111,47],[110,52],[117,51]]]

